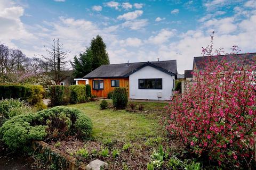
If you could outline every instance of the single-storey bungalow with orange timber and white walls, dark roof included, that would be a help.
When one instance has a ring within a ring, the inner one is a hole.
[[[170,100],[177,62],[157,61],[101,65],[85,75],[92,95],[106,98],[115,87],[124,87],[130,99]]]

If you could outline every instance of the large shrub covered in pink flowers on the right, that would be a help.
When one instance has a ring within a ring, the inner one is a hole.
[[[204,159],[249,166],[256,138],[256,63],[218,63],[214,56],[205,63],[183,98],[174,96],[166,107],[166,129]]]

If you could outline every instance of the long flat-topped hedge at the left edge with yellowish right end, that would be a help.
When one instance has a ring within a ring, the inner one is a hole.
[[[39,106],[43,109],[45,90],[41,85],[0,85],[0,99],[26,100],[30,106]]]

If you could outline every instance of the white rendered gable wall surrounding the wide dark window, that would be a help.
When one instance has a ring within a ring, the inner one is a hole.
[[[162,89],[139,89],[139,79],[161,78],[163,79]],[[131,74],[129,77],[130,99],[170,100],[172,96],[172,84],[174,79],[174,76],[159,71],[154,67],[145,66],[139,71]],[[158,92],[162,92],[161,98],[157,97]]]

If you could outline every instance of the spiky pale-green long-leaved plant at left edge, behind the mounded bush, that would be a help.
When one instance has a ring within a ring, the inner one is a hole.
[[[11,118],[24,113],[32,113],[33,109],[29,107],[24,100],[3,99],[0,100],[0,114],[5,118]]]

